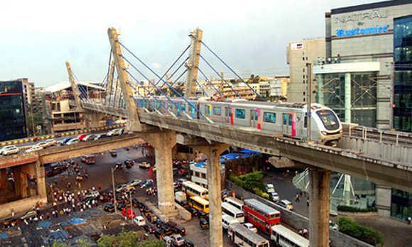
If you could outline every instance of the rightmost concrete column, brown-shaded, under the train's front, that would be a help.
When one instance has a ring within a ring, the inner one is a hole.
[[[330,170],[310,168],[309,242],[329,246]]]

